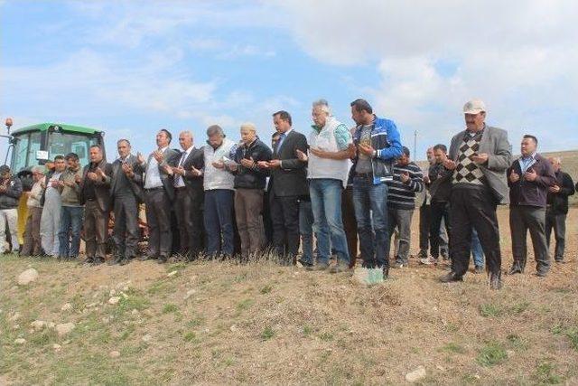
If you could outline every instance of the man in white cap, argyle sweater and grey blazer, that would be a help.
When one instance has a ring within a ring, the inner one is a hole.
[[[486,106],[472,99],[463,107],[466,129],[452,138],[450,154],[443,163],[452,170],[450,219],[452,271],[443,282],[461,281],[470,264],[471,231],[478,232],[486,255],[489,286],[502,287],[501,252],[496,205],[508,203],[506,171],[511,165],[508,133],[485,123]]]

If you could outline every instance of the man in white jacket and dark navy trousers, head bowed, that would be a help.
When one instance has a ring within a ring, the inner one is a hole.
[[[207,128],[208,146],[204,146],[205,191],[204,222],[207,233],[207,256],[233,256],[233,200],[235,176],[229,171],[237,145],[225,137],[218,125]],[[232,167],[231,167],[232,168]],[[222,242],[221,242],[222,240]]]

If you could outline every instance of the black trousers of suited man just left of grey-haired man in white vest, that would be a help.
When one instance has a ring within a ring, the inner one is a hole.
[[[299,197],[271,193],[271,221],[275,252],[292,263],[299,251]]]

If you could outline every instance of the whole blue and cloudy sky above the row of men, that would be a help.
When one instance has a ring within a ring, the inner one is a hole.
[[[0,0],[0,118],[96,127],[111,159],[122,137],[152,151],[160,128],[200,146],[250,121],[269,143],[280,109],[308,134],[315,99],[353,126],[363,98],[424,159],[477,98],[514,153],[524,134],[572,150],[577,17],[573,0]]]

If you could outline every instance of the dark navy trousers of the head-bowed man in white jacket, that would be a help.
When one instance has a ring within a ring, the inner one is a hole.
[[[233,256],[233,197],[235,191],[212,189],[205,191],[206,253],[210,257]],[[222,245],[221,245],[222,236]]]

